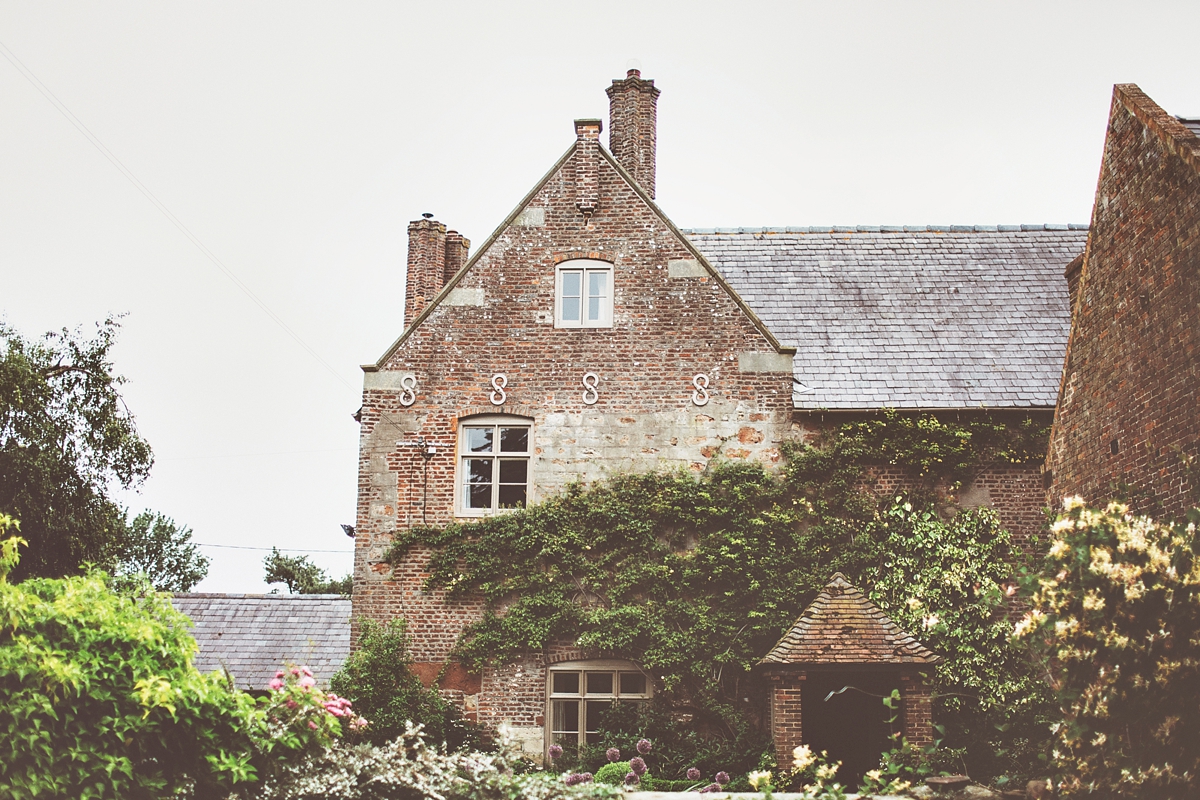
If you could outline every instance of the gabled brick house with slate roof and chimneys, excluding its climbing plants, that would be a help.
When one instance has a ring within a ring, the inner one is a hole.
[[[586,739],[587,698],[644,698],[653,680],[569,643],[482,674],[443,670],[484,606],[425,591],[420,547],[384,563],[395,531],[619,470],[774,464],[785,439],[884,407],[1048,423],[1069,330],[1063,270],[1087,235],[682,230],[654,203],[659,90],[631,70],[607,91],[610,148],[601,121],[576,120],[566,152],[474,254],[432,218],[409,224],[400,338],[364,366],[354,618],[408,620],[418,670],[533,753]],[[1038,469],[1001,468],[960,504],[995,506],[1020,537],[1043,499]]]

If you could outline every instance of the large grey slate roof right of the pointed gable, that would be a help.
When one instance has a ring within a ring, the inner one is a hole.
[[[785,345],[799,409],[1054,408],[1087,225],[685,231]]]

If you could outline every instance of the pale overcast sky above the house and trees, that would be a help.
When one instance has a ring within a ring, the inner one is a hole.
[[[0,314],[125,314],[156,464],[122,501],[341,576],[408,221],[481,243],[630,59],[680,227],[1064,223],[1114,83],[1200,115],[1198,30],[1194,1],[0,2],[0,42],[262,303],[0,58]],[[265,590],[263,551],[204,551],[200,590]]]

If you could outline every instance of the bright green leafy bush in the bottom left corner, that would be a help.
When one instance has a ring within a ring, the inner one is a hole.
[[[187,625],[166,596],[113,593],[102,575],[0,582],[6,796],[149,799],[251,780],[253,700],[194,669]]]

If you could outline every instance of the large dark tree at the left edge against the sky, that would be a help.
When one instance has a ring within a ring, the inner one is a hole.
[[[116,330],[107,319],[94,338],[64,330],[31,341],[0,323],[0,507],[29,540],[17,581],[110,565],[125,517],[109,486],[150,471],[113,372]]]

